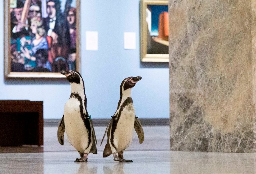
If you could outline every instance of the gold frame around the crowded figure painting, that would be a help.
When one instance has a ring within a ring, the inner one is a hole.
[[[76,70],[80,71],[80,0],[76,1],[76,28],[77,28],[77,38],[76,38]],[[4,75],[5,78],[66,78],[60,73],[52,72],[11,72],[11,59],[10,59],[10,38],[11,38],[11,15],[9,12],[10,0],[4,0]]]

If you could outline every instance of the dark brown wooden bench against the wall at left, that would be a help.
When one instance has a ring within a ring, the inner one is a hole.
[[[43,145],[43,102],[0,100],[0,146]]]

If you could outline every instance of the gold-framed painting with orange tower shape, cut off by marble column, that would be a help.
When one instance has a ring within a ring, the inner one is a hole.
[[[169,62],[168,0],[141,0],[140,57],[142,62]]]

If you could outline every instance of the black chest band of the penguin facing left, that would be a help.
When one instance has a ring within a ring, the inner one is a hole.
[[[84,149],[84,150],[86,150],[90,146],[90,144],[91,144],[91,133],[92,133],[90,121],[89,121],[89,118],[88,118],[89,115],[88,115],[88,112],[86,110],[86,105],[84,106],[86,113],[84,113],[83,112],[83,100],[82,100],[81,96],[78,93],[72,92],[71,95],[70,95],[70,98],[75,98],[75,99],[77,99],[80,102],[80,105],[79,105],[80,116],[81,116],[81,118],[82,118],[82,120],[84,122],[84,125],[85,125],[86,129],[88,130],[88,145]],[[84,104],[86,104],[86,96],[85,96]]]

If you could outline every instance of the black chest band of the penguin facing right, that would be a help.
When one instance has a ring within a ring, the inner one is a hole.
[[[120,99],[121,100],[121,99]],[[132,101],[132,98],[131,97],[128,97],[124,103],[121,105],[120,109],[119,109],[119,113],[117,115],[117,118],[116,119],[113,119],[113,123],[112,123],[112,128],[111,128],[111,138],[110,138],[110,142],[111,142],[111,145],[117,150],[117,147],[114,145],[114,133],[116,131],[116,128],[117,128],[117,123],[120,119],[120,116],[121,116],[121,113],[124,109],[125,106],[127,106],[128,104],[132,104],[133,101]]]

